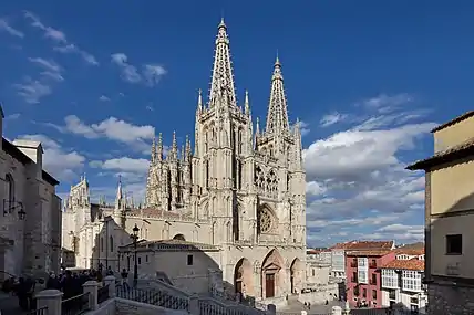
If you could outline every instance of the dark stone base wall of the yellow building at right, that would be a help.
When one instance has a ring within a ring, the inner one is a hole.
[[[474,287],[429,285],[429,314],[474,314]]]

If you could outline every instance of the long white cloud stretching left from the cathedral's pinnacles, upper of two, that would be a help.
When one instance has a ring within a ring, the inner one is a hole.
[[[64,118],[64,126],[47,124],[62,133],[71,133],[89,139],[107,138],[126,144],[137,151],[150,150],[150,144],[155,135],[155,128],[150,125],[136,126],[115,117],[109,117],[97,124],[87,125],[78,116],[69,115]]]

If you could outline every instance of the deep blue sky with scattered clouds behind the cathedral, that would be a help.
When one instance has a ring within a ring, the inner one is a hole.
[[[3,2],[4,136],[43,141],[61,193],[85,172],[94,198],[117,174],[143,195],[153,135],[194,132],[223,14],[254,116],[277,51],[282,62],[305,124],[310,245],[422,238],[423,178],[403,167],[432,154],[434,125],[473,108],[471,1]]]

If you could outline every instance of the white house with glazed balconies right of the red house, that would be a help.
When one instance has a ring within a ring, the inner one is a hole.
[[[382,306],[424,312],[427,297],[423,273],[424,250],[399,250],[395,260],[381,267]]]

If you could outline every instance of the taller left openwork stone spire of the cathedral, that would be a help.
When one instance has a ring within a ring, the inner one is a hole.
[[[226,91],[227,102],[230,106],[237,106],[234,86],[234,72],[230,61],[229,38],[227,27],[221,19],[214,54],[213,77],[210,80],[209,107],[214,107],[219,99],[219,92]]]

